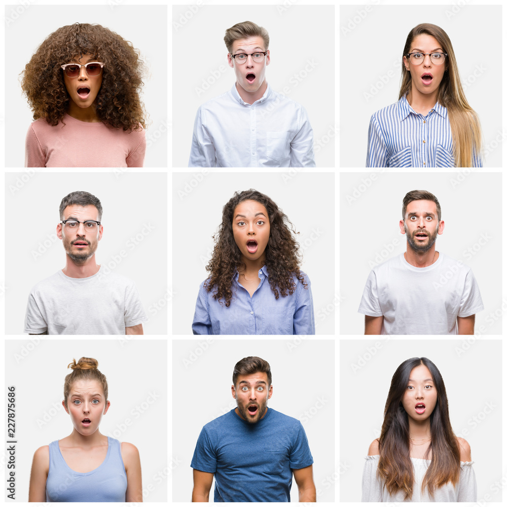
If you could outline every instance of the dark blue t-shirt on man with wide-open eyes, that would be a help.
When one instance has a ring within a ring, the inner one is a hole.
[[[215,477],[215,502],[289,502],[292,469],[313,463],[301,422],[273,409],[257,423],[231,410],[208,422],[191,466]]]

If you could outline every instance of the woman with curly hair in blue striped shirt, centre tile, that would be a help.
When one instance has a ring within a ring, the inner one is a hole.
[[[313,335],[310,280],[287,216],[257,190],[236,192],[201,283],[195,335]]]

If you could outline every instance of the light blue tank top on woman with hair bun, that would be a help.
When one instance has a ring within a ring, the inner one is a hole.
[[[75,472],[63,459],[58,440],[49,444],[47,502],[124,502],[127,474],[120,442],[107,437],[107,455],[91,472]]]

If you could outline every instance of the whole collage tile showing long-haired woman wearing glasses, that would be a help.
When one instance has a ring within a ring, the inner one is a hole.
[[[500,167],[501,9],[342,5],[340,68],[356,64],[340,73],[340,167]]]

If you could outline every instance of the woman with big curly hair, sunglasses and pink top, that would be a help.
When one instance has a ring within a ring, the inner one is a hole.
[[[101,25],[51,33],[22,73],[35,120],[25,166],[142,167],[142,67],[132,44]]]

